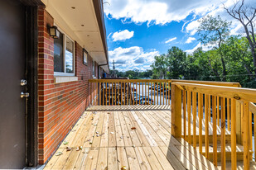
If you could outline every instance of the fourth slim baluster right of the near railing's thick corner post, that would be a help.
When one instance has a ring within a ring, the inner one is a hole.
[[[202,152],[202,120],[203,120],[203,94],[198,93],[198,121],[199,121],[199,152]],[[205,135],[206,137],[206,135]]]

